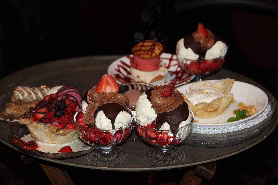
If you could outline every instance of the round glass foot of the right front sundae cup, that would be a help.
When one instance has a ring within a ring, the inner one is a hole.
[[[158,146],[146,152],[145,160],[154,166],[173,165],[183,162],[185,154],[177,147]]]

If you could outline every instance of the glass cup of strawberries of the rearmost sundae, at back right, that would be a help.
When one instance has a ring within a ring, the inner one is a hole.
[[[206,80],[206,76],[217,72],[225,61],[225,55],[212,60],[190,60],[186,58],[179,58],[179,66],[189,74],[196,75],[195,81]]]

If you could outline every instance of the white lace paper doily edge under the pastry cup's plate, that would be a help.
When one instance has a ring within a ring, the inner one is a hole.
[[[229,127],[223,127],[223,128],[201,128],[194,126],[192,134],[223,134],[228,132],[234,132],[246,128],[250,128],[251,126],[254,126],[263,120],[265,120],[269,114],[271,113],[271,103],[268,102],[267,107],[265,110],[259,114],[257,117],[254,117],[253,119],[242,121],[236,125],[229,126]]]

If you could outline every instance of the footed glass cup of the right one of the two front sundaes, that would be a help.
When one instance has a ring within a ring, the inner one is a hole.
[[[190,110],[191,111],[191,110]],[[191,111],[192,113],[192,111]],[[178,164],[185,160],[185,154],[175,145],[183,142],[193,130],[194,114],[183,127],[171,130],[155,130],[136,123],[139,136],[147,143],[156,147],[148,150],[145,160],[154,166]]]

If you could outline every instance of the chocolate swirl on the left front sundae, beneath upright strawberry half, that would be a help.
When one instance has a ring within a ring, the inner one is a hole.
[[[85,122],[94,125],[95,124],[95,118],[94,113],[95,110],[102,106],[105,103],[118,103],[120,105],[123,105],[124,107],[128,106],[128,98],[123,94],[118,94],[116,92],[108,92],[108,93],[97,93],[97,85],[93,86],[87,94],[87,101],[88,106],[85,111]]]

